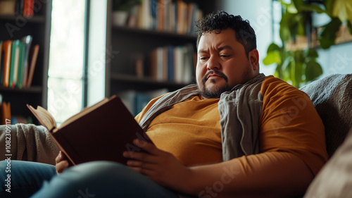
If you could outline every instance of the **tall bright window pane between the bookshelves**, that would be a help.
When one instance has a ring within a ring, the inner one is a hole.
[[[81,111],[86,0],[53,0],[48,110],[58,124]]]

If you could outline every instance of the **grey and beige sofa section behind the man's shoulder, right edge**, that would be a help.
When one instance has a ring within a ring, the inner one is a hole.
[[[301,90],[322,118],[329,154],[304,198],[352,197],[352,75],[329,75]]]

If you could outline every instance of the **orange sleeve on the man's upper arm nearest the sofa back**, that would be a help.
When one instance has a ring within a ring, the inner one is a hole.
[[[260,152],[294,154],[316,175],[327,161],[325,127],[308,95],[272,76],[261,93]]]

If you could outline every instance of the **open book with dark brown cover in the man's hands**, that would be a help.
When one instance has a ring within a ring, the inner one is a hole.
[[[73,165],[101,160],[125,164],[127,159],[122,156],[123,151],[143,151],[132,144],[132,140],[151,142],[117,96],[83,109],[60,127],[46,109],[41,106],[34,109],[28,104],[27,107],[49,130]]]

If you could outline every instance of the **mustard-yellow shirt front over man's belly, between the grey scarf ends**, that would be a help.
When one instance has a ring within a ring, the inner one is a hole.
[[[156,147],[172,153],[185,166],[220,162],[218,101],[196,96],[175,104],[154,118],[146,134]]]

